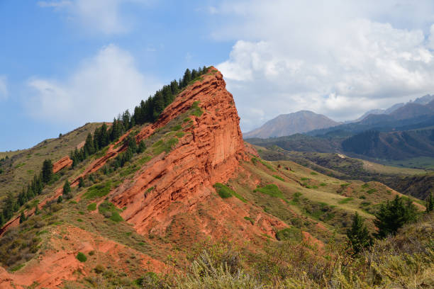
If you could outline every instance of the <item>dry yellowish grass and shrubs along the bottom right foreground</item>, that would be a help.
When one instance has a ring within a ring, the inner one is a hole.
[[[187,276],[159,280],[169,288],[396,288],[397,282],[399,288],[430,288],[433,223],[431,217],[423,225],[406,227],[357,256],[345,244],[334,243],[320,253],[300,242],[278,242],[253,256],[202,246]]]

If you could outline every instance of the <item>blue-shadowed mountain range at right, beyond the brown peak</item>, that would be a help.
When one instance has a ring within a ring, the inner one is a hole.
[[[365,159],[434,157],[434,96],[423,96],[402,106],[398,103],[386,111],[388,113],[370,113],[355,123],[247,141],[263,147],[276,145],[289,151],[342,152]]]

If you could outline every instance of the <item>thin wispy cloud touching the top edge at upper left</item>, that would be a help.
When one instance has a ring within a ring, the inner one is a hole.
[[[118,34],[126,33],[132,27],[131,16],[122,15],[121,6],[146,2],[146,0],[62,0],[39,1],[38,5],[66,11],[69,18],[79,23],[85,31]]]

